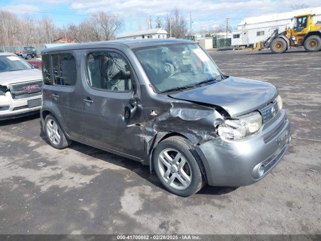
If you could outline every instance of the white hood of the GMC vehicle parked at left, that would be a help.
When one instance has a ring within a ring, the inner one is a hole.
[[[0,85],[16,84],[41,79],[42,73],[39,69],[0,72]]]

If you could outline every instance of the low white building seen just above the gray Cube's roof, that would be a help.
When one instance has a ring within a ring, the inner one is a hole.
[[[143,31],[119,34],[116,39],[166,39],[167,32],[164,29],[148,29]]]

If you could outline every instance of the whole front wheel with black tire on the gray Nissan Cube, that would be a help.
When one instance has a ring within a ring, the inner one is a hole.
[[[205,184],[191,143],[182,137],[170,137],[157,145],[153,166],[158,179],[172,193],[190,196]]]

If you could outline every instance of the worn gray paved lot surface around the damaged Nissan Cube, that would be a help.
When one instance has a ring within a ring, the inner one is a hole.
[[[47,144],[40,117],[0,123],[0,233],[321,233],[321,52],[210,51],[228,75],[271,82],[292,123],[262,181],[183,198],[148,167],[74,143]],[[311,171],[313,170],[313,171]]]

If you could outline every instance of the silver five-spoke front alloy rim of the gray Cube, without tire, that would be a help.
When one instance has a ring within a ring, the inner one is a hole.
[[[191,166],[182,153],[173,148],[164,149],[157,158],[158,170],[171,187],[184,190],[192,182]]]

